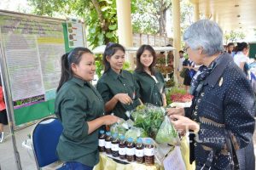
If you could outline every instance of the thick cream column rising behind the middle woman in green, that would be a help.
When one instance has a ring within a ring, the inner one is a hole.
[[[119,43],[125,47],[132,46],[132,27],[131,27],[131,0],[116,0],[116,10],[118,18]],[[134,68],[132,54],[128,54],[131,69]]]

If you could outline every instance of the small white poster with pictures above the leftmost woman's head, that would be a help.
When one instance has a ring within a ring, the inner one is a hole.
[[[83,25],[80,20],[67,20],[67,37],[69,48],[84,47]]]

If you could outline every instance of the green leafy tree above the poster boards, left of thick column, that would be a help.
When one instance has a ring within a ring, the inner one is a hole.
[[[87,40],[91,48],[108,42],[118,42],[115,0],[29,0],[33,14],[54,17],[57,14],[83,18],[87,26]],[[72,15],[71,15],[72,16]]]

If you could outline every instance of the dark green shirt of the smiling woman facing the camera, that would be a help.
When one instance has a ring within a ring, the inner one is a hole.
[[[166,91],[163,75],[159,71],[155,72],[154,77],[157,82],[144,71],[134,71],[133,76],[139,86],[143,104],[149,103],[156,106],[163,106],[161,94],[165,94]]]

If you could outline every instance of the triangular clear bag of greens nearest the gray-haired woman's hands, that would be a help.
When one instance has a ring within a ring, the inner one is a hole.
[[[160,144],[180,145],[177,131],[172,126],[169,116],[165,116],[165,120],[162,122],[155,137],[155,141]]]

